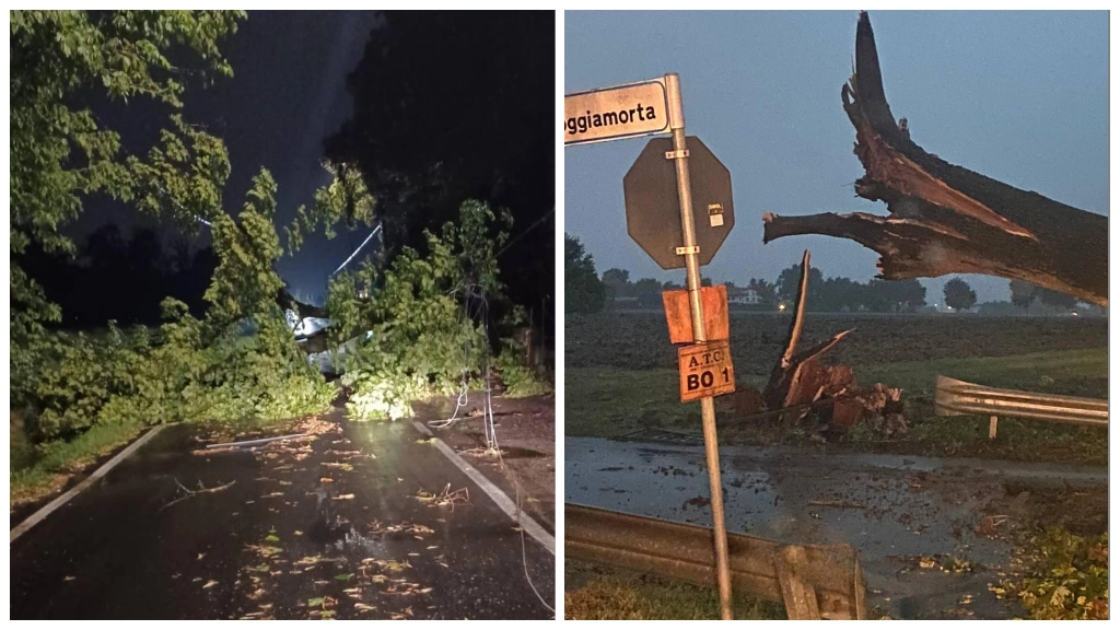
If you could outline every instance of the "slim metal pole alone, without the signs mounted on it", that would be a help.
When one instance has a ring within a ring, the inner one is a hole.
[[[676,164],[676,198],[681,204],[681,232],[684,247],[678,253],[684,256],[688,275],[689,307],[692,312],[692,335],[697,343],[708,341],[703,326],[703,303],[700,300],[700,262],[697,247],[696,222],[692,217],[692,186],[689,179],[689,151],[684,142],[684,106],[681,103],[681,80],[676,73],[665,75],[669,90],[669,127],[673,132],[673,150],[665,159]],[[727,562],[727,526],[724,524],[724,487],[719,482],[719,442],[716,437],[716,401],[700,399],[703,418],[703,447],[708,460],[708,483],[711,487],[711,520],[716,534],[716,576],[719,582],[719,609],[724,619],[731,619],[731,573]]]

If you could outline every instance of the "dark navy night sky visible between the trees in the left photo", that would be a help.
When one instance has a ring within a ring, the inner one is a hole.
[[[218,78],[212,87],[188,83],[185,118],[223,138],[230,151],[227,211],[236,214],[262,166],[277,180],[278,225],[289,224],[296,209],[309,204],[316,188],[330,182],[330,174],[320,166],[323,140],[349,115],[346,74],[361,59],[375,24],[376,16],[363,11],[250,11],[237,33],[223,40],[233,77]],[[122,132],[127,148],[144,152],[164,120],[156,113],[155,105],[144,103],[131,104],[127,113],[100,112]],[[125,233],[133,225],[158,226],[165,238],[175,232],[166,222],[139,216],[124,204],[94,198],[86,202],[86,210],[73,228],[80,239],[108,221],[120,224]],[[330,241],[310,237],[293,258],[278,262],[278,271],[293,291],[325,295],[327,276],[367,235],[364,229],[347,233],[339,226],[338,232]],[[193,244],[209,244],[205,229]],[[363,253],[372,247],[373,242]]]

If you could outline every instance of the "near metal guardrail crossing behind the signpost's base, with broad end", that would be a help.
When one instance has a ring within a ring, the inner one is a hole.
[[[716,585],[712,530],[564,503],[564,557]],[[782,602],[790,619],[865,619],[866,584],[850,545],[784,545],[728,534],[732,589]]]

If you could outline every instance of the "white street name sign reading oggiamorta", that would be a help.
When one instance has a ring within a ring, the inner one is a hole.
[[[669,131],[664,80],[564,94],[560,130],[564,146]]]

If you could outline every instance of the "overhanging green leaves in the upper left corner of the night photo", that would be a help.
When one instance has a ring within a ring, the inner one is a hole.
[[[221,141],[171,115],[162,147],[143,163],[122,156],[120,135],[102,128],[77,96],[103,94],[119,103],[143,96],[181,108],[184,77],[232,74],[217,43],[236,30],[244,12],[11,11],[10,18],[12,257],[31,243],[73,252],[60,228],[94,193],[179,216],[221,207],[214,201],[230,172]],[[172,50],[183,64],[172,63]],[[11,339],[31,343],[27,337],[59,315],[11,263]]]

